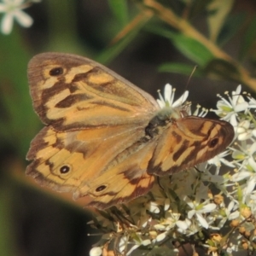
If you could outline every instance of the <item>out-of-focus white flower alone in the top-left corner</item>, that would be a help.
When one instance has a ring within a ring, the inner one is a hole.
[[[2,0],[0,3],[0,13],[3,13],[1,31],[4,34],[11,32],[14,20],[17,20],[21,26],[32,26],[32,18],[21,10],[27,6],[24,0]]]

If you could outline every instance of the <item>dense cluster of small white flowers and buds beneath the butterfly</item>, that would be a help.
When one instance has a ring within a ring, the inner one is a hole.
[[[188,92],[174,102],[166,85],[160,107],[178,108]],[[207,163],[158,177],[148,195],[127,204],[97,211],[90,225],[102,239],[90,250],[96,255],[177,255],[189,244],[211,255],[256,250],[256,100],[241,94],[219,96],[217,113],[234,126],[230,148]],[[195,110],[205,116],[207,110]]]

